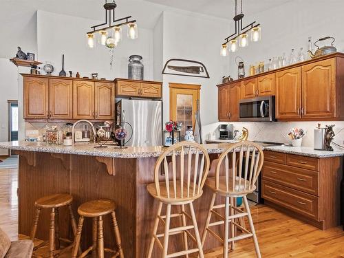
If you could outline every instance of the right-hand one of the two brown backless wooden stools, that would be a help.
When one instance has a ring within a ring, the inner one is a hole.
[[[122,243],[120,240],[120,230],[117,224],[117,218],[115,213],[115,203],[111,200],[93,200],[81,204],[78,208],[79,222],[78,229],[76,231],[76,237],[74,239],[74,246],[72,251],[72,257],[76,258],[78,255],[78,249],[80,247],[81,230],[83,229],[84,217],[92,217],[92,239],[93,244],[87,250],[85,250],[79,257],[85,257],[92,251],[93,257],[104,258],[104,252],[110,252],[111,257],[124,258],[122,250]],[[111,214],[112,222],[114,224],[114,235],[117,245],[117,250],[111,250],[104,248],[104,234],[103,234],[103,216]],[[96,252],[98,255],[96,255]]]

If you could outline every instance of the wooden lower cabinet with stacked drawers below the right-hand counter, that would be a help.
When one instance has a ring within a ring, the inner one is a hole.
[[[274,155],[275,154],[275,155]],[[264,151],[264,203],[322,230],[341,224],[343,158],[312,158]]]

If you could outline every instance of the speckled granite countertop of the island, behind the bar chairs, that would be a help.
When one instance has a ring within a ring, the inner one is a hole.
[[[226,143],[202,144],[208,153],[222,153],[227,147]],[[164,147],[128,147],[127,149],[115,149],[114,146],[107,146],[103,149],[95,149],[99,146],[94,143],[76,143],[73,146],[47,145],[45,142],[0,142],[0,149],[12,149],[17,151],[38,151],[46,153],[63,153],[74,155],[90,155],[110,158],[150,158],[159,157]]]

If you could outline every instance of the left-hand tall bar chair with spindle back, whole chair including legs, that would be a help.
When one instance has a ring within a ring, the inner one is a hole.
[[[169,156],[171,156],[171,164],[168,164],[166,160]],[[159,182],[161,167],[164,169],[164,181]],[[201,258],[204,257],[193,201],[201,197],[203,193],[202,189],[206,175],[208,175],[208,169],[209,156],[206,149],[194,142],[179,142],[160,155],[154,168],[155,183],[147,186],[149,193],[159,202],[148,258],[152,255],[155,241],[162,249],[161,257],[163,258],[182,255],[189,257],[189,254],[193,252],[197,252]],[[161,215],[162,204],[166,204],[166,215]],[[186,204],[189,205],[191,215],[185,211]],[[171,214],[171,206],[180,206],[180,213]],[[182,218],[182,226],[170,228],[171,218],[175,217]],[[186,218],[191,220],[191,225],[186,225]],[[164,233],[157,234],[160,221],[164,224]],[[195,237],[189,231],[192,229],[195,231]],[[182,234],[184,250],[167,254],[169,236],[176,234]],[[159,239],[160,237],[164,239],[163,244]],[[196,248],[189,249],[188,237],[195,242]]]

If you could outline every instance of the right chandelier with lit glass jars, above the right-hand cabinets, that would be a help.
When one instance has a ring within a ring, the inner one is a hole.
[[[244,14],[242,13],[242,0],[240,1],[240,13],[237,14],[237,0],[235,0],[235,33],[224,39],[224,43],[221,45],[221,55],[228,56],[228,52],[236,52],[239,47],[247,47],[248,41],[257,42],[261,39],[261,28],[259,23],[256,24],[255,21],[248,24],[243,28],[242,19]],[[250,36],[248,35],[250,32]]]

